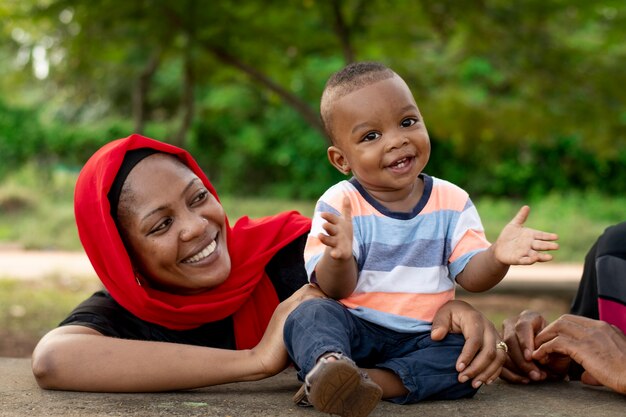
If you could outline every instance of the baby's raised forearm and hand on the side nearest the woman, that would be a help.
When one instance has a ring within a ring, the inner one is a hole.
[[[315,266],[315,277],[319,287],[331,298],[340,299],[352,294],[356,287],[357,267],[352,256],[352,209],[345,197],[341,215],[322,213],[326,220],[319,240],[326,245],[324,254]]]

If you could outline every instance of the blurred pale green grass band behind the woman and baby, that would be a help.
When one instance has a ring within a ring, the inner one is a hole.
[[[74,223],[72,195],[77,172],[57,166],[42,178],[34,164],[9,174],[0,184],[0,244],[13,242],[26,249],[82,250]],[[258,218],[297,210],[311,216],[314,199],[279,199],[237,196],[220,192],[220,201],[231,224],[242,216]],[[522,204],[529,204],[528,227],[559,235],[558,262],[582,262],[602,233],[624,221],[626,196],[597,192],[551,192],[537,198],[474,199],[485,233],[494,241]]]

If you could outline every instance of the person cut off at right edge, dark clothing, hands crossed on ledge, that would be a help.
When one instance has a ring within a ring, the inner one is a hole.
[[[571,313],[549,325],[529,310],[505,320],[502,378],[528,384],[569,375],[626,394],[626,222],[609,227],[585,257]]]

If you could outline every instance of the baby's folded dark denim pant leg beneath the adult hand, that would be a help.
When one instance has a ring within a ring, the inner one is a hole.
[[[409,390],[406,397],[389,401],[411,404],[422,400],[455,400],[471,397],[478,391],[472,388],[471,381],[460,383],[458,380],[456,361],[465,344],[463,335],[449,334],[437,342],[430,338],[430,333],[416,335],[416,338],[416,349],[379,364],[395,372]]]

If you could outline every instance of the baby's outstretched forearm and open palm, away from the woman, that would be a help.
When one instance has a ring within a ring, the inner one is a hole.
[[[510,265],[532,265],[552,260],[543,251],[557,250],[554,233],[524,227],[530,207],[523,206],[500,232],[491,247],[470,259],[456,280],[466,290],[486,291],[504,278]]]

